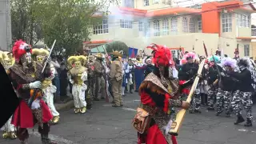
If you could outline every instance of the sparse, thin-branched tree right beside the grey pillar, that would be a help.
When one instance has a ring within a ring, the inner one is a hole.
[[[34,45],[42,40],[42,26],[36,21],[35,12],[38,0],[12,0],[11,1],[11,26],[12,39],[25,40]]]

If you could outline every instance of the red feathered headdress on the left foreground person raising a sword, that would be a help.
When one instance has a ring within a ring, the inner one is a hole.
[[[15,61],[19,62],[19,59],[22,57],[22,55],[26,54],[26,46],[28,45],[26,42],[23,42],[22,40],[18,40],[14,43],[13,46],[13,55],[15,58]],[[30,53],[32,54],[32,49],[30,49]]]

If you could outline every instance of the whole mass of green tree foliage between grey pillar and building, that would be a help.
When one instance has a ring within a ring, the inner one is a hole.
[[[56,39],[55,54],[81,52],[82,42],[90,40],[92,26],[102,22],[102,18],[92,16],[98,11],[107,14],[110,3],[117,2],[118,0],[12,0],[13,39],[24,39],[31,45],[43,40],[49,47]]]

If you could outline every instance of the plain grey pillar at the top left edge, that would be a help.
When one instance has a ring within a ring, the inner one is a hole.
[[[11,49],[10,0],[0,0],[0,47],[1,50]]]

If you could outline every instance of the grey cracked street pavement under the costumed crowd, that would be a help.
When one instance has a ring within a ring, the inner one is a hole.
[[[135,109],[139,104],[138,93],[127,94],[124,107],[114,108],[104,101],[94,102],[86,114],[74,114],[62,110],[61,121],[52,126],[50,138],[60,144],[136,144],[137,134],[131,126]],[[254,118],[256,118],[254,106]],[[202,114],[186,114],[178,136],[178,144],[256,144],[254,126],[234,126],[231,118],[216,117],[214,112],[202,110]],[[0,144],[17,144],[18,140],[0,138]],[[30,130],[30,144],[40,144],[37,128]]]

